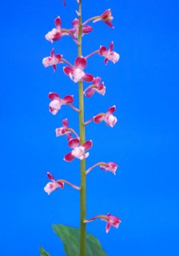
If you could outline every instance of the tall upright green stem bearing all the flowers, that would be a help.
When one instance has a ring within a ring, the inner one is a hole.
[[[79,32],[78,32],[78,56],[82,56],[82,0],[79,0]],[[85,125],[84,125],[84,98],[83,98],[83,82],[78,82],[79,90],[79,128],[80,143],[84,143]],[[80,162],[81,166],[81,190],[80,190],[80,256],[86,255],[86,159]]]

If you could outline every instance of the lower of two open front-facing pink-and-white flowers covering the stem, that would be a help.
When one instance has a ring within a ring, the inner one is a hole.
[[[89,156],[89,152],[85,153],[85,150],[90,150],[92,147],[92,141],[86,141],[80,146],[80,140],[78,138],[71,138],[68,145],[73,150],[66,154],[64,160],[66,162],[71,162],[74,158],[78,158],[80,160],[87,158]]]

